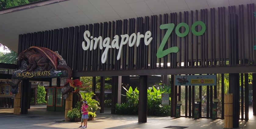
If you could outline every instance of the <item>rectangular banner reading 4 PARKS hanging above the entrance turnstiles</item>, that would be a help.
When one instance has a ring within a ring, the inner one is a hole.
[[[216,75],[175,75],[176,86],[214,86]]]

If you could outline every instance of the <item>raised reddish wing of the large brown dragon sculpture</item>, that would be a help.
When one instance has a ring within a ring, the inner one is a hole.
[[[61,59],[57,53],[44,47],[31,46],[29,49],[36,49],[45,59],[49,59],[57,70],[58,59]]]

